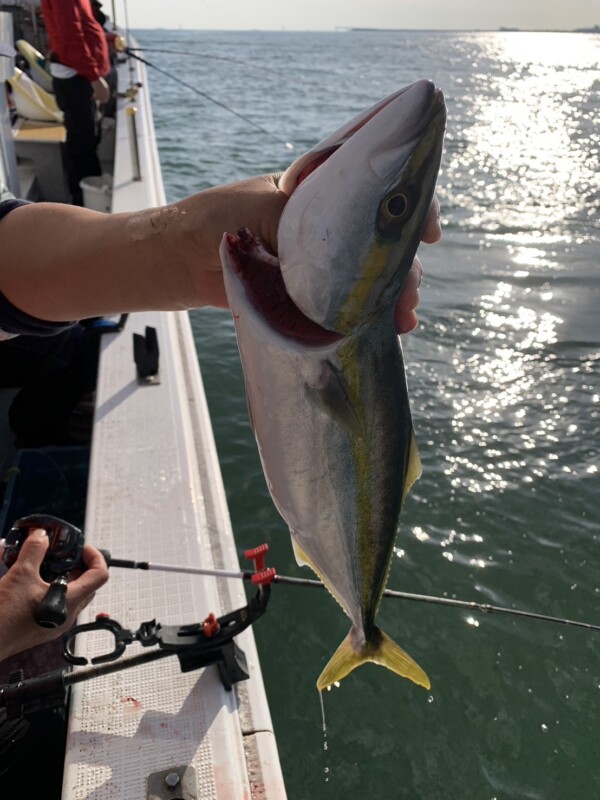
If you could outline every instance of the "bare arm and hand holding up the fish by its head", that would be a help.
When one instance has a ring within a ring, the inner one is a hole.
[[[225,308],[223,232],[248,227],[276,252],[286,201],[277,176],[263,175],[124,214],[53,203],[21,206],[0,221],[0,291],[31,316],[57,322],[123,311]],[[439,237],[434,201],[423,239]],[[403,295],[410,302],[401,304],[401,332],[416,324],[419,281],[415,265]]]

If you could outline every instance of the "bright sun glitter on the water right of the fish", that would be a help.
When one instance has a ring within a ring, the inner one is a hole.
[[[598,56],[593,37],[540,34],[489,36],[473,55],[481,73],[466,80],[479,92],[450,127],[442,194],[453,207],[447,228],[479,230],[481,246],[496,252],[491,274],[502,277],[457,320],[464,336],[445,392],[455,446],[444,471],[454,489],[483,494],[531,483],[556,469],[561,442],[577,435],[567,419],[576,387],[556,363],[566,309],[554,281],[569,269],[568,247],[597,237],[589,96]],[[490,63],[501,72],[492,76]],[[514,446],[502,428],[517,434]],[[587,471],[582,461],[561,468]]]

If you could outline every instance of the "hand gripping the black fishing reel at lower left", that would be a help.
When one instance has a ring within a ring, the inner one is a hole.
[[[82,556],[87,570],[69,581],[66,622],[59,628],[40,627],[33,614],[49,588],[40,577],[40,566],[47,549],[46,532],[32,531],[13,566],[0,578],[0,661],[61,636],[92,600],[97,589],[108,580],[108,568],[102,554],[94,547],[84,545]]]

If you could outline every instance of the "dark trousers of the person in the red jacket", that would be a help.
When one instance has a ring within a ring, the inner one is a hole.
[[[53,78],[58,107],[65,115],[67,130],[66,170],[73,204],[83,205],[79,182],[89,175],[101,175],[102,168],[96,153],[96,104],[88,80],[80,75],[72,78]]]

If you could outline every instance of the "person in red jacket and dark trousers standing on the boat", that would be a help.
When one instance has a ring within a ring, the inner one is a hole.
[[[67,131],[66,169],[74,205],[83,205],[80,181],[101,175],[96,147],[96,104],[110,96],[106,34],[90,0],[42,0],[50,47],[50,72]]]

